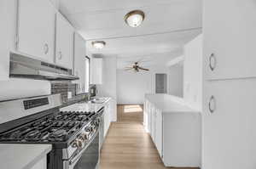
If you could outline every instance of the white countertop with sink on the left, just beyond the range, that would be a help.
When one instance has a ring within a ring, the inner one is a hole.
[[[78,104],[72,104],[67,107],[61,108],[61,111],[95,111],[101,110],[102,107],[105,106],[105,104],[108,103],[108,101],[111,98],[104,98],[105,101],[103,103],[91,103],[91,102],[83,102]]]

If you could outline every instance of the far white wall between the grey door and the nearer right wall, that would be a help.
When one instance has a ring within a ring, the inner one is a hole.
[[[183,98],[183,64],[169,67],[169,94]]]

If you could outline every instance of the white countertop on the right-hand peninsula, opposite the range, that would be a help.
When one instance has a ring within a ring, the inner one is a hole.
[[[155,107],[162,110],[163,113],[198,113],[192,110],[183,102],[183,99],[168,94],[146,94],[145,99],[154,104]]]

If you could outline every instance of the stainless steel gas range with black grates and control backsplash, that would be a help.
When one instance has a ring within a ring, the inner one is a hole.
[[[0,144],[52,144],[48,169],[95,169],[98,112],[60,111],[59,94],[0,103]]]

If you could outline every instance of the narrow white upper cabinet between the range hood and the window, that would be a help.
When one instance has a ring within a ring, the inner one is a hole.
[[[85,82],[85,41],[83,37],[80,37],[78,33],[74,35],[74,75],[79,76],[77,88],[78,93],[84,93]]]

